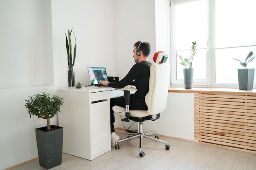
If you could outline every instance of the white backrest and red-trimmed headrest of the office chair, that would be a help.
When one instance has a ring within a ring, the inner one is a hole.
[[[158,51],[154,55],[154,62],[150,66],[149,90],[145,97],[148,114],[156,115],[166,108],[170,79],[170,65],[166,63],[168,53]]]

